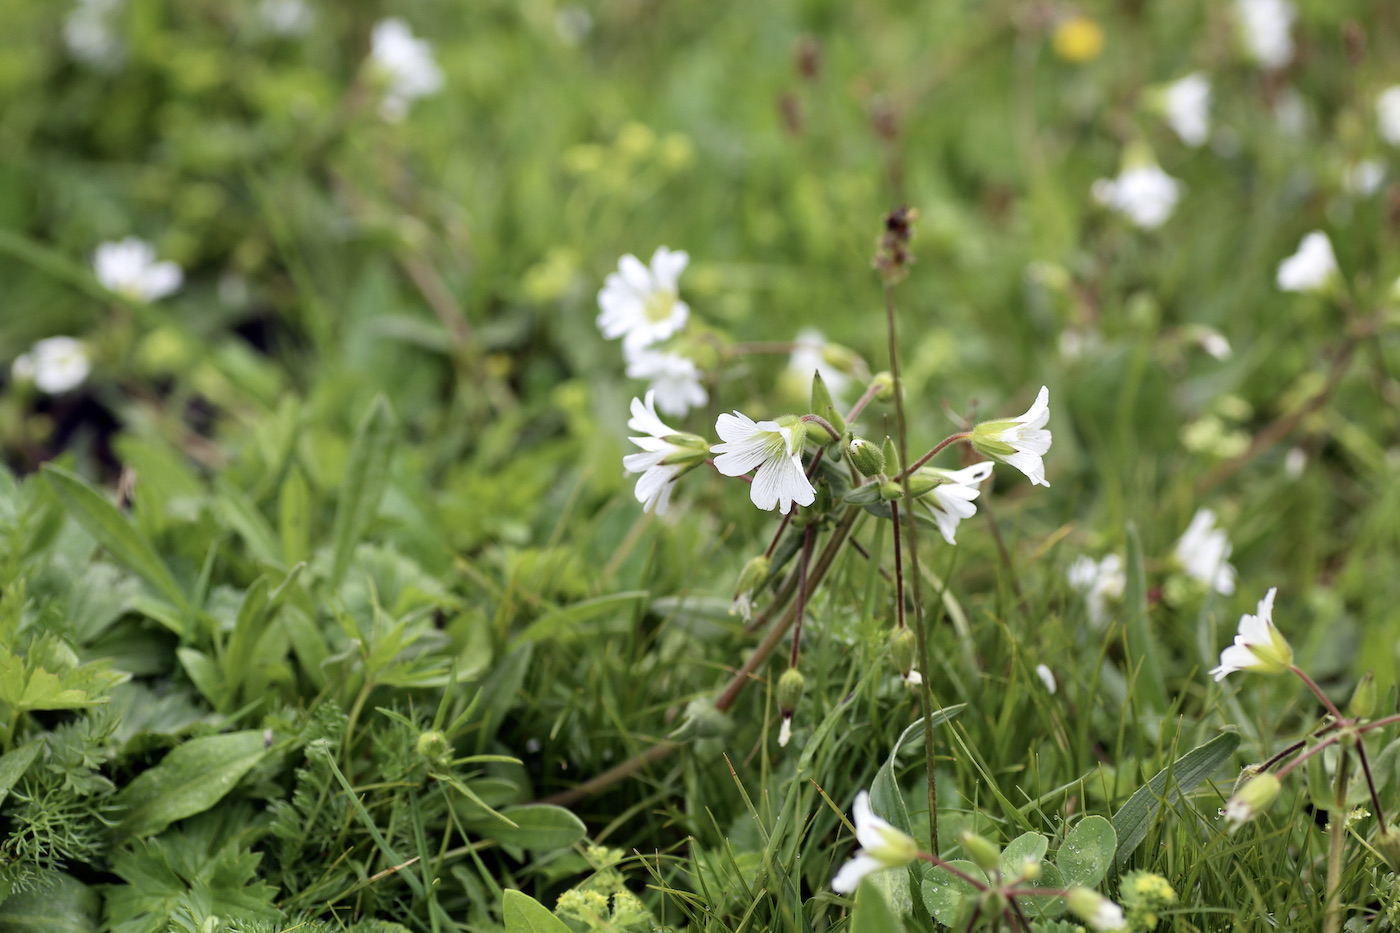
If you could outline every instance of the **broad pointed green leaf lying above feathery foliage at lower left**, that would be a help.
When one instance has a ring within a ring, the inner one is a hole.
[[[266,754],[262,730],[192,738],[118,794],[126,817],[116,825],[116,836],[150,836],[209,810]]]

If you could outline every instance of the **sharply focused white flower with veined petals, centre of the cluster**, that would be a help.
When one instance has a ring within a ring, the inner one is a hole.
[[[778,422],[753,423],[742,412],[721,415],[714,430],[724,438],[711,452],[714,468],[725,476],[742,476],[753,468],[753,485],[749,499],[764,511],[774,507],[783,514],[799,506],[811,506],[816,490],[802,469],[802,440],[806,430],[795,417],[790,424]]]

